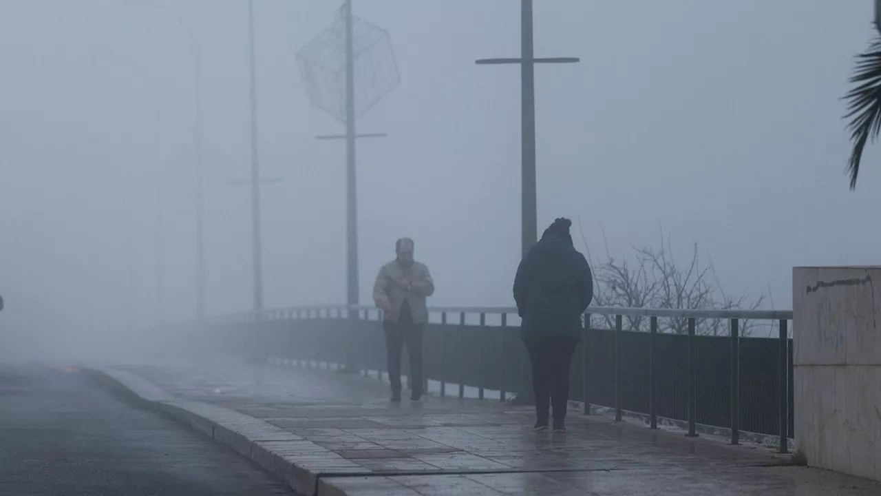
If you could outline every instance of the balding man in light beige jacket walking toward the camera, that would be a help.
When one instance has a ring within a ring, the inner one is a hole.
[[[411,400],[422,398],[422,334],[428,321],[426,298],[434,293],[428,267],[413,259],[413,240],[402,237],[395,243],[396,259],[381,267],[374,283],[374,303],[382,310],[389,359],[391,401],[401,401],[401,352],[407,346],[412,384]]]

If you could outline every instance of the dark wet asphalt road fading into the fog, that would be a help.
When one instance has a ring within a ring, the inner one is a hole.
[[[292,495],[241,456],[88,375],[0,365],[0,494]]]

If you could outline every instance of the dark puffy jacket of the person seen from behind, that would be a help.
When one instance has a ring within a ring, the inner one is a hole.
[[[545,235],[517,267],[514,299],[523,339],[567,337],[581,341],[581,314],[594,297],[588,261],[558,235]]]

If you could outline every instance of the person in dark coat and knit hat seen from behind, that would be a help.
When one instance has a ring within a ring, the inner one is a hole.
[[[569,364],[581,342],[581,315],[594,297],[593,275],[587,259],[575,250],[570,227],[572,221],[560,218],[545,229],[514,280],[521,337],[532,364],[537,431],[547,430],[553,404],[554,432],[566,432]]]

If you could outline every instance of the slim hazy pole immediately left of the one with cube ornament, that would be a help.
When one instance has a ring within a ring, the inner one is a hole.
[[[251,77],[251,228],[254,263],[254,312],[263,310],[263,246],[260,233],[260,161],[257,154],[257,87],[254,0],[248,0],[248,41]]]

